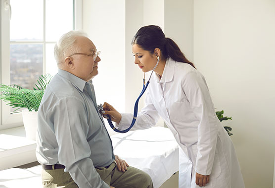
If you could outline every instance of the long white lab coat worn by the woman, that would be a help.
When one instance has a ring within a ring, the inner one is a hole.
[[[153,74],[145,102],[132,130],[154,126],[159,116],[164,119],[180,145],[179,188],[199,188],[195,172],[210,175],[205,188],[244,188],[233,144],[201,73],[168,58],[162,78]],[[132,118],[122,114],[119,129],[128,128]]]

